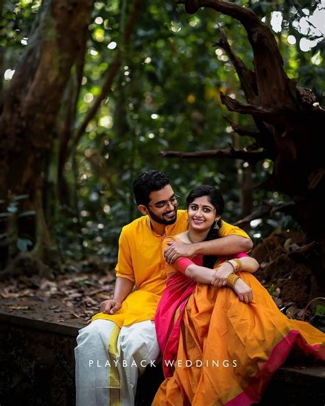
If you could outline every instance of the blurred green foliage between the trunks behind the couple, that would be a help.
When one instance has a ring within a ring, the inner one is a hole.
[[[308,52],[299,47],[300,40],[315,36],[312,29],[303,30],[299,23],[307,12],[315,12],[317,2],[244,0],[237,3],[252,8],[270,26],[273,26],[274,12],[281,13],[280,31],[275,35],[286,71],[300,86],[311,88],[322,103],[324,45],[318,42]],[[25,51],[40,1],[3,4],[0,45],[8,49],[3,57],[5,72],[14,70]],[[77,147],[77,179],[73,177],[71,160],[65,165],[69,199],[60,206],[53,231],[66,257],[93,254],[115,261],[121,227],[138,215],[132,180],[149,168],[168,173],[174,189],[183,197],[182,207],[191,188],[199,183],[213,183],[224,194],[226,220],[234,222],[241,217],[238,177],[245,175],[244,162],[235,165],[230,160],[167,160],[159,153],[169,149],[223,149],[234,142],[247,147],[252,143],[248,137],[235,141],[231,127],[222,117],[226,115],[239,125],[254,129],[249,117],[230,114],[220,103],[220,91],[234,94],[241,101],[244,96],[228,56],[214,45],[219,40],[219,24],[226,30],[237,55],[253,68],[252,49],[245,30],[237,21],[212,10],[200,10],[190,16],[176,1],[145,1],[134,34],[125,43],[123,27],[131,10],[132,2],[94,3],[73,129],[80,127],[100,94],[119,49],[122,65],[113,91],[101,103]],[[290,45],[289,36],[296,38],[296,43]],[[8,79],[4,80],[3,86],[8,83]],[[66,110],[64,104],[60,115],[63,118]],[[253,183],[263,182],[271,170],[272,162],[268,161],[254,166]],[[72,197],[73,190],[77,192],[76,199]],[[254,207],[263,199],[281,201],[285,196],[254,190]],[[16,203],[12,203],[10,210],[16,210]],[[8,216],[10,210],[3,215]],[[256,225],[252,236],[261,238],[275,227],[296,226],[291,219],[276,214]],[[27,249],[27,240],[20,241],[20,249]]]

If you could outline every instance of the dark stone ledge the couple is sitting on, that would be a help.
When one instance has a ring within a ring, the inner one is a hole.
[[[77,319],[53,322],[0,311],[0,404],[75,405],[73,348],[82,327]],[[147,368],[139,378],[136,406],[151,404],[162,379],[160,368]],[[324,399],[324,364],[287,365],[276,372],[259,405],[324,406]]]

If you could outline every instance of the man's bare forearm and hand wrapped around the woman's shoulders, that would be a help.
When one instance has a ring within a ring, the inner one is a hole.
[[[246,253],[252,249],[253,243],[249,238],[242,236],[227,236],[216,240],[186,244],[185,242],[172,242],[165,250],[165,261],[173,264],[180,257],[202,255],[234,255]]]

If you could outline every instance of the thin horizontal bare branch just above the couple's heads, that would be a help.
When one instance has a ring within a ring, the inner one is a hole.
[[[198,152],[182,152],[182,151],[160,151],[160,155],[168,158],[184,158],[184,159],[197,159],[205,157],[226,157],[233,160],[243,160],[250,162],[250,164],[256,164],[256,162],[264,160],[266,154],[264,151],[242,151],[229,147],[228,149],[209,149],[206,151]]]

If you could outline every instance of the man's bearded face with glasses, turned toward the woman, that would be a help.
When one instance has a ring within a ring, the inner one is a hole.
[[[158,224],[169,225],[176,222],[176,197],[170,185],[149,194],[147,212],[149,217]]]

